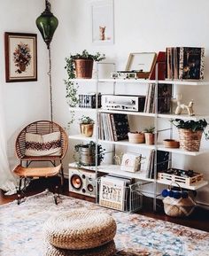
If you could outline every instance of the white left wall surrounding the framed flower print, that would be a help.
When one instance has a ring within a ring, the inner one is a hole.
[[[14,166],[14,140],[20,128],[35,120],[49,119],[47,50],[35,26],[43,12],[43,0],[0,1],[0,93],[2,94],[8,155]],[[38,81],[5,82],[4,32],[37,34]]]

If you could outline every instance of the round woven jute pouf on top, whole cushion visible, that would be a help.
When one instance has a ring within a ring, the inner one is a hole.
[[[43,227],[46,241],[69,250],[90,249],[112,241],[116,222],[107,213],[73,210],[50,217]]]

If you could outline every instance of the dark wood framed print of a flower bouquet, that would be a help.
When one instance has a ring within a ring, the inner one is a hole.
[[[37,81],[37,35],[5,32],[4,43],[6,81]]]

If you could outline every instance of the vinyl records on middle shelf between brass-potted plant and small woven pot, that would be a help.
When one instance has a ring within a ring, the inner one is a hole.
[[[98,114],[98,138],[108,141],[128,139],[128,115],[101,112]]]

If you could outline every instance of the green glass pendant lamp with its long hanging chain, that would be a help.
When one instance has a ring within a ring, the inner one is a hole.
[[[50,120],[53,120],[53,107],[52,107],[52,87],[51,87],[51,58],[50,58],[50,42],[53,38],[54,32],[58,27],[58,19],[50,12],[50,2],[45,0],[45,11],[36,19],[35,23],[43,36],[43,41],[49,50],[49,63],[50,70],[48,72],[50,78]]]

